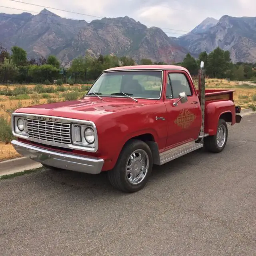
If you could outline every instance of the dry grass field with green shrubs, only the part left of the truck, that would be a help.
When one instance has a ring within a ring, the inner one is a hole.
[[[46,85],[0,85],[0,162],[18,157],[12,145],[10,116],[17,108],[76,100],[88,91],[90,85],[64,84],[62,86]]]

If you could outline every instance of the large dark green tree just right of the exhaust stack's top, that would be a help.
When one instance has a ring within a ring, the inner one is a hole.
[[[217,47],[208,55],[208,74],[214,78],[224,78],[231,64],[230,52]]]

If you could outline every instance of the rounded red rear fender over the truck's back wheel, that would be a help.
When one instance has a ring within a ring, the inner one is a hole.
[[[217,133],[219,119],[222,118],[231,125],[236,123],[235,106],[232,100],[218,100],[206,102],[205,105],[205,133],[210,136]]]

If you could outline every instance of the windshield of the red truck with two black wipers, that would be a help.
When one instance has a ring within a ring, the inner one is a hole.
[[[161,70],[106,72],[96,80],[86,95],[158,99],[161,88]]]

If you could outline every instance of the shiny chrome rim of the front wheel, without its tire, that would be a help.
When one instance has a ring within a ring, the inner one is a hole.
[[[132,152],[126,163],[126,177],[130,184],[137,185],[144,180],[149,168],[149,158],[142,149]]]

